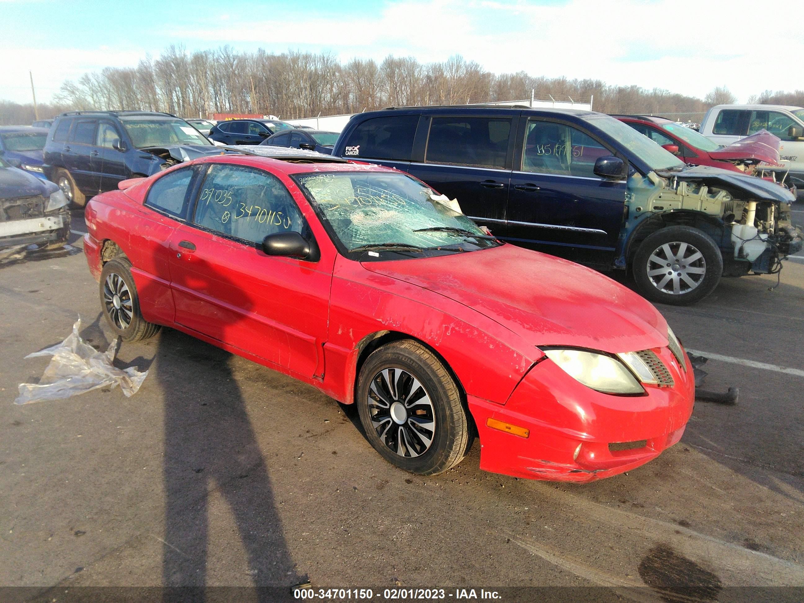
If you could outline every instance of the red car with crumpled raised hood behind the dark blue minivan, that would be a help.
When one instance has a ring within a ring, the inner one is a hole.
[[[645,134],[650,140],[678,156],[683,162],[695,166],[720,167],[744,174],[753,174],[761,163],[781,166],[779,162],[781,140],[766,130],[745,137],[733,145],[722,146],[712,142],[702,133],[664,117],[645,115],[615,115],[613,117],[624,121],[637,132]]]

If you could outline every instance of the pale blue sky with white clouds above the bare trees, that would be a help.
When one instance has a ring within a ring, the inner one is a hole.
[[[796,0],[800,2],[800,0]],[[64,80],[188,51],[330,51],[353,57],[460,54],[490,72],[594,78],[738,102],[804,88],[801,11],[756,0],[0,0],[0,100],[52,100]],[[765,15],[764,23],[757,17]],[[800,19],[798,19],[800,21]],[[575,99],[587,100],[587,99]]]

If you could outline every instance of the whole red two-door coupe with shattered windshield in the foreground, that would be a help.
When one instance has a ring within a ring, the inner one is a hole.
[[[692,412],[662,315],[601,274],[484,234],[403,172],[217,155],[88,204],[84,252],[112,329],[159,325],[357,404],[371,445],[589,482],[657,457]]]

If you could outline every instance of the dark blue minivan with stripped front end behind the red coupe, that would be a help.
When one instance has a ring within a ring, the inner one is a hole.
[[[785,187],[686,166],[603,113],[390,108],[352,117],[333,154],[420,178],[503,240],[633,269],[653,301],[698,301],[721,276],[775,273],[802,247]]]

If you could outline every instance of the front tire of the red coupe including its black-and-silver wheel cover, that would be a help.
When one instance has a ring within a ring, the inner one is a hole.
[[[392,465],[435,475],[466,456],[472,432],[457,384],[420,343],[404,339],[372,352],[357,396],[369,443]]]

